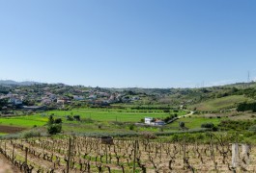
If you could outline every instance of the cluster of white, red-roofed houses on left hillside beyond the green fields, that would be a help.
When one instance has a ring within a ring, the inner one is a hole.
[[[128,103],[140,100],[120,92],[102,91],[97,88],[79,88],[72,86],[26,86],[10,89],[9,93],[0,92],[0,99],[8,99],[9,107],[28,109],[28,106],[62,108],[72,102],[85,102],[97,106],[109,106],[113,103]],[[26,107],[27,106],[27,107]]]

